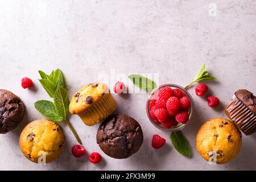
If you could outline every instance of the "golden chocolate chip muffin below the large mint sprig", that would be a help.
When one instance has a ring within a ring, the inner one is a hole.
[[[49,163],[63,150],[63,132],[56,123],[36,120],[28,123],[19,137],[19,147],[34,163]]]

